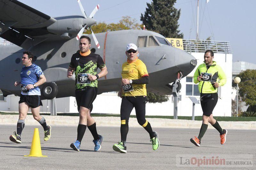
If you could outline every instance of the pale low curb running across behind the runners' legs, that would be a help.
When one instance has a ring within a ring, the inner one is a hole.
[[[1,125],[15,125],[18,119],[0,119]],[[120,127],[120,121],[102,121],[95,120],[97,126],[114,126]],[[38,122],[34,119],[25,119],[26,125],[38,125]],[[51,120],[47,119],[47,124],[55,126],[77,126],[77,120]],[[189,122],[170,122],[170,121],[150,121],[150,124],[154,128],[191,128],[200,129],[202,121],[189,121]],[[219,122],[220,126],[224,129],[237,129],[237,130],[256,130],[255,122],[248,123],[234,123],[234,122]],[[210,125],[210,124],[209,124]],[[129,127],[140,127],[137,121],[129,121]],[[208,126],[209,129],[214,129],[212,126]]]

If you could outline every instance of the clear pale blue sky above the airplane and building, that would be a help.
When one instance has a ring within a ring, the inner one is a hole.
[[[82,15],[75,0],[20,0],[51,17]],[[106,23],[118,22],[122,16],[130,16],[140,21],[146,3],[151,0],[81,0],[89,16],[97,4],[99,11],[94,19]],[[175,7],[181,9],[180,31],[185,39],[196,39],[197,0],[177,0]],[[256,64],[256,1],[253,0],[200,0],[199,39],[211,36],[212,40],[230,41],[233,49],[233,62],[246,61]],[[194,15],[193,15],[194,14]]]

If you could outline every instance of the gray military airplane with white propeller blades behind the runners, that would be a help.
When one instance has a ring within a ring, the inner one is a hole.
[[[22,52],[31,51],[47,79],[40,89],[42,99],[75,95],[75,77],[67,78],[72,54],[79,52],[79,39],[84,29],[90,28],[98,10],[97,5],[87,18],[78,0],[83,16],[52,18],[17,0],[0,0],[0,37],[15,45],[0,46],[0,89],[4,96],[20,95],[13,82],[20,79]],[[118,91],[122,63],[127,59],[126,45],[138,46],[139,58],[150,75],[148,92],[172,94],[169,85],[179,72],[188,75],[196,66],[195,58],[172,45],[159,33],[146,30],[121,30],[88,35],[94,40],[91,51],[102,56],[108,75],[100,78],[98,93]],[[96,38],[97,37],[97,38]],[[100,48],[100,45],[101,48]]]

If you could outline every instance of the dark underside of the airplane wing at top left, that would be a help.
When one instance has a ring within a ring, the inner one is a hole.
[[[0,37],[22,48],[46,40],[44,35],[52,34],[46,27],[55,22],[56,19],[17,0],[0,0]]]

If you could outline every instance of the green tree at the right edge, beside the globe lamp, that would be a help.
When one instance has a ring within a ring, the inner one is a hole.
[[[246,105],[249,105],[247,111],[256,111],[256,70],[242,71],[237,77],[241,78],[238,93]]]

